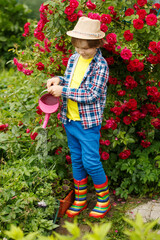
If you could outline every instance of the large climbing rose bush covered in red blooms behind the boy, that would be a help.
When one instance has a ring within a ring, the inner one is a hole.
[[[159,9],[160,4],[147,0],[49,0],[40,6],[39,22],[24,27],[25,49],[15,49],[14,64],[36,84],[40,78],[40,94],[46,79],[64,74],[74,53],[66,31],[83,15],[101,21],[110,77],[100,143],[111,144],[101,144],[100,153],[102,160],[108,159],[104,167],[122,197],[160,190],[155,158],[160,153]]]

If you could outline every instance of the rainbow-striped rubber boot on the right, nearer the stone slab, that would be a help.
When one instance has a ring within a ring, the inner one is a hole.
[[[94,184],[94,187],[98,196],[97,204],[90,212],[89,216],[94,218],[103,218],[111,209],[111,204],[109,201],[108,179],[103,184]]]

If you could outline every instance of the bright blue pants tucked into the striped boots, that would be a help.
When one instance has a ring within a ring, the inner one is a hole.
[[[106,182],[106,175],[100,161],[100,128],[84,129],[80,121],[68,120],[64,125],[68,147],[71,153],[73,177],[82,180],[89,174],[96,185]]]

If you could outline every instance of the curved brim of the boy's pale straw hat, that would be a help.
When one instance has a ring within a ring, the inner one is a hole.
[[[68,36],[70,37],[74,37],[74,38],[79,38],[79,39],[85,39],[85,40],[98,40],[98,39],[102,39],[105,37],[105,33],[100,31],[98,33],[98,36],[96,36],[96,34],[85,34],[85,33],[78,33],[75,31],[68,31],[66,33]]]

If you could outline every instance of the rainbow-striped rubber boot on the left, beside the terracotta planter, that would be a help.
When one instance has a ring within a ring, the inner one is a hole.
[[[74,217],[87,207],[87,180],[88,177],[77,181],[74,179],[75,200],[73,205],[66,211],[68,217]]]

